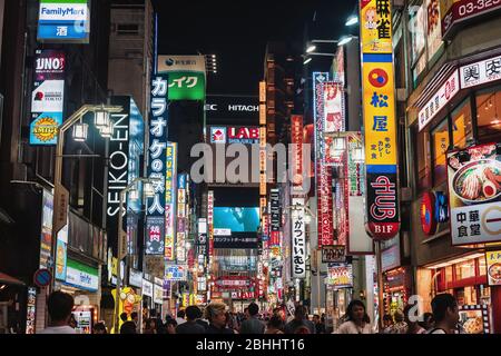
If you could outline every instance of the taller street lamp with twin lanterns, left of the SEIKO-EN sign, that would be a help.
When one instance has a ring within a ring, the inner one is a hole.
[[[52,231],[51,231],[51,274],[49,291],[53,291],[56,287],[56,251],[58,247],[58,233],[66,226],[68,218],[69,191],[62,186],[62,149],[65,147],[65,134],[73,127],[72,136],[77,141],[87,139],[88,126],[82,122],[82,118],[87,112],[94,111],[96,113],[96,121],[98,112],[100,118],[108,117],[110,112],[121,112],[124,110],[120,106],[96,106],[84,105],[80,109],[75,111],[58,130],[57,146],[56,146],[56,161],[53,172],[53,214],[52,214]],[[78,123],[77,123],[78,122]]]

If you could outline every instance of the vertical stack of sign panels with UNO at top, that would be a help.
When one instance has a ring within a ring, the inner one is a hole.
[[[37,50],[31,93],[30,145],[56,145],[65,107],[66,57],[62,51]]]

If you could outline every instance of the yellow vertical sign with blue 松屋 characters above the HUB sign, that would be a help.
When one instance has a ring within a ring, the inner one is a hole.
[[[391,56],[390,56],[391,57]],[[393,62],[364,62],[365,164],[396,164]]]

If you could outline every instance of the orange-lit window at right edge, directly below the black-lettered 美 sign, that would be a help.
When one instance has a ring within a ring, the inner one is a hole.
[[[500,89],[500,88],[498,88]],[[480,142],[498,142],[501,136],[501,91],[477,96],[477,126]]]

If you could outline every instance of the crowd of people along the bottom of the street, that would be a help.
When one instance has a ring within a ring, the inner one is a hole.
[[[440,294],[431,303],[433,313],[415,315],[414,307],[407,305],[393,316],[382,319],[381,334],[456,334],[459,328],[459,308],[454,297]],[[55,291],[48,298],[50,326],[42,334],[76,334],[72,318],[73,298],[62,291]],[[122,313],[120,334],[325,334],[325,315],[314,315],[313,320],[304,306],[294,309],[294,316],[286,317],[284,308],[275,308],[272,314],[261,313],[255,303],[250,303],[244,313],[232,313],[223,303],[210,303],[202,310],[198,306],[188,306],[179,310],[176,317],[167,315],[143,320],[136,312]],[[343,323],[333,334],[374,334],[376,333],[361,300],[352,300],[347,306]],[[94,325],[94,334],[108,334],[104,322]]]

